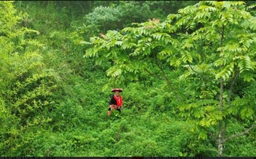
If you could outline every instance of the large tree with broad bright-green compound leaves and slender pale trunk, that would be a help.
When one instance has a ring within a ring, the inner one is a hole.
[[[215,139],[222,156],[224,143],[256,127],[254,103],[246,97],[253,94],[239,89],[255,78],[256,23],[249,8],[244,2],[198,2],[162,23],[153,19],[91,38],[83,42],[90,45],[85,56],[113,63],[106,73],[117,85],[147,74],[162,77],[180,115],[199,128],[199,138]],[[228,132],[232,119],[247,129]]]

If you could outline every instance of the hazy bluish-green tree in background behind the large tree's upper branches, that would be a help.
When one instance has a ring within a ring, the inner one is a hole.
[[[179,3],[179,4],[178,4]],[[174,13],[188,4],[195,2],[166,1],[116,1],[95,2],[96,7],[84,16],[86,36],[105,34],[108,30],[120,30],[131,23],[141,23],[151,18],[165,19],[169,13]],[[90,36],[89,36],[90,37]]]

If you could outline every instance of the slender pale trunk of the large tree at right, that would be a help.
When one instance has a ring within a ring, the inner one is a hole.
[[[224,80],[221,78],[221,91],[220,91],[220,112],[223,110],[223,85]],[[217,148],[218,148],[218,156],[222,157],[223,154],[223,143],[224,143],[224,136],[223,136],[223,121],[219,121],[219,136],[217,140]]]

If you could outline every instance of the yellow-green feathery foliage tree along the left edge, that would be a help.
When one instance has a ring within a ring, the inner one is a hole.
[[[51,121],[58,76],[44,67],[43,45],[31,38],[39,32],[19,26],[22,15],[13,2],[0,2],[0,8],[0,152],[19,156],[29,153],[24,146],[38,135],[36,128]]]

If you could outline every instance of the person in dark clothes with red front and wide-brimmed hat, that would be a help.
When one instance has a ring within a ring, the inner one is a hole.
[[[111,110],[118,110],[119,113],[121,113],[121,109],[123,109],[123,100],[122,96],[120,95],[120,92],[123,92],[123,89],[112,89],[111,92],[114,92],[114,94],[109,100],[109,116],[111,114]]]

